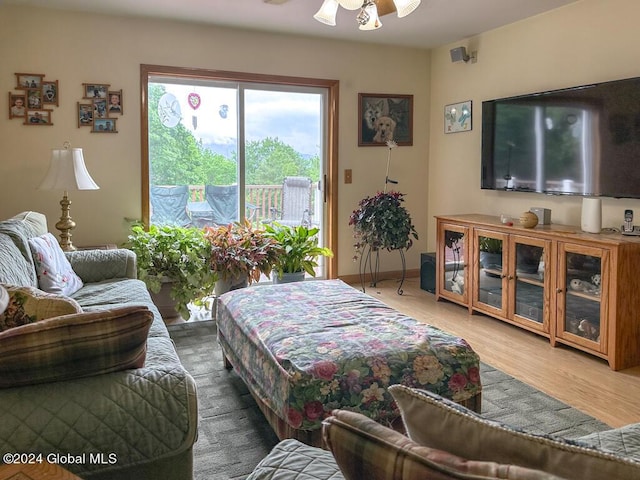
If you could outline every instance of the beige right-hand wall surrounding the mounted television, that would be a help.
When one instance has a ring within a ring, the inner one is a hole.
[[[518,217],[531,206],[552,210],[555,223],[580,225],[579,197],[480,190],[483,100],[640,76],[637,0],[582,0],[550,13],[432,51],[428,249],[433,216],[486,213]],[[449,50],[478,52],[475,64],[453,64]],[[444,105],[473,100],[473,130],[443,134]],[[640,167],[639,167],[640,168]],[[620,227],[640,201],[603,199],[603,226]],[[639,223],[639,222],[636,222]]]

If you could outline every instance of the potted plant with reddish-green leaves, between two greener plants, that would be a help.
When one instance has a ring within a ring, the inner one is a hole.
[[[210,268],[218,280],[216,295],[270,276],[281,247],[247,220],[204,228],[211,247]]]

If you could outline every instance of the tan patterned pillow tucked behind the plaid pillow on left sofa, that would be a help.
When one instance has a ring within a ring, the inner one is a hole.
[[[45,318],[82,312],[78,302],[72,298],[46,293],[34,287],[3,287],[7,290],[9,302],[0,314],[0,332]]]

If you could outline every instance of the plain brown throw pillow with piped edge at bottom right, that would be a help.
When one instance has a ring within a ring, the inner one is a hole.
[[[640,478],[640,463],[585,443],[536,435],[483,419],[432,392],[393,385],[409,437],[420,445],[479,461],[536,468],[566,479]]]

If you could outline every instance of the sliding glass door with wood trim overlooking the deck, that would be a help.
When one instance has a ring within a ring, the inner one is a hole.
[[[332,89],[177,70],[143,88],[148,223],[307,225],[330,246]]]

